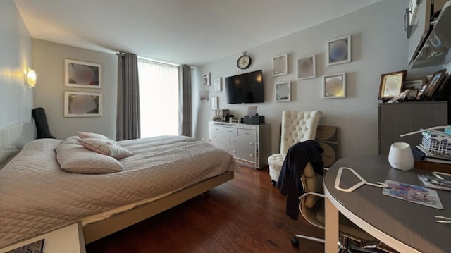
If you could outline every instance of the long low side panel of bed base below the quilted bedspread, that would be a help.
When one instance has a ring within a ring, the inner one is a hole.
[[[207,192],[214,187],[226,183],[228,180],[233,179],[233,171],[227,171],[221,175],[217,175],[214,178],[203,180],[200,183],[191,185],[183,190],[174,192],[171,195],[157,199],[154,202],[142,204],[128,211],[124,211],[120,214],[115,214],[102,221],[96,223],[87,224],[83,227],[83,234],[85,235],[85,243],[94,242],[106,235],[111,235],[123,228],[132,226],[135,223],[144,221],[156,214],[171,209],[173,206],[177,206],[188,199],[192,199],[204,192]]]

